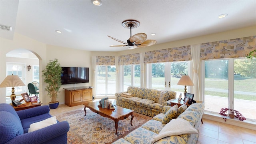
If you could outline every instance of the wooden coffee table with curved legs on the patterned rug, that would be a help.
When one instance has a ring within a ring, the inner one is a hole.
[[[132,112],[134,112],[133,110],[122,108],[120,106],[115,106],[116,109],[112,110],[108,108],[98,107],[98,105],[99,105],[99,102],[90,102],[88,104],[84,104],[84,112],[85,112],[84,116],[86,116],[85,108],[89,108],[91,111],[96,112],[97,114],[100,114],[103,117],[111,118],[112,120],[115,121],[116,134],[117,134],[119,120],[124,120],[128,118],[128,116],[132,116],[131,118],[131,125],[132,125],[132,120],[133,120]]]

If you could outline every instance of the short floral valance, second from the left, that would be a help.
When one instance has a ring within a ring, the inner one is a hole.
[[[140,64],[140,53],[118,56],[119,65]]]

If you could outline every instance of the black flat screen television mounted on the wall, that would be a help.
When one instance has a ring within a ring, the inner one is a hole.
[[[89,82],[89,68],[62,67],[61,84],[78,84]]]

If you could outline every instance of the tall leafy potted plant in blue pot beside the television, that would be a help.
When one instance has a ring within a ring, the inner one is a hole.
[[[51,98],[49,102],[50,109],[58,108],[59,102],[57,101],[58,92],[60,92],[62,67],[58,62],[58,59],[50,60],[46,65],[45,69],[42,71],[44,77],[44,82],[46,83],[46,88],[48,96]]]

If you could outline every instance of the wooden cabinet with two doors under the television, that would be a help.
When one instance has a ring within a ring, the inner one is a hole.
[[[63,88],[65,90],[65,104],[77,106],[92,102],[92,88],[89,86]]]

